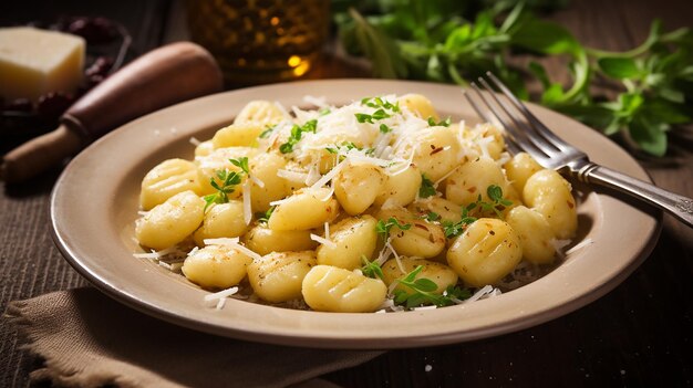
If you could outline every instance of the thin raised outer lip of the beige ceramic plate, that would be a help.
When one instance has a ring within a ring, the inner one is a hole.
[[[433,87],[433,88],[441,87],[441,88],[447,88],[448,91],[451,87],[457,87],[457,86],[451,86],[451,85],[431,84],[431,83],[425,83],[425,82],[386,81],[386,80],[370,80],[370,78],[318,80],[318,81],[300,81],[300,82],[293,82],[293,83],[261,85],[261,86],[254,86],[249,88],[236,90],[236,91],[230,91],[230,92],[223,92],[223,93],[218,93],[215,95],[200,97],[200,98],[196,98],[189,102],[176,104],[174,106],[164,108],[162,111],[152,113],[136,120],[133,120],[122,126],[121,128],[137,126],[138,123],[143,123],[144,120],[152,119],[153,116],[168,115],[172,112],[176,112],[178,109],[185,108],[186,106],[190,106],[190,104],[204,105],[205,101],[215,101],[216,98],[220,98],[223,96],[228,96],[228,95],[244,95],[244,94],[248,94],[249,91],[263,92],[263,91],[276,91],[277,88],[281,90],[281,88],[287,88],[287,87],[288,88],[310,87],[311,85],[316,85],[316,84],[339,85],[341,83],[349,83],[351,85],[353,84],[363,84],[363,85],[399,84],[399,85],[410,85],[410,86],[417,86],[417,85],[424,86],[425,85],[426,87]],[[414,87],[412,88],[415,90]],[[542,113],[546,113],[544,111],[548,111],[546,108],[536,106],[534,104],[529,104],[529,105],[530,105],[530,108],[538,109],[539,112],[542,112]],[[552,114],[556,114],[556,113],[552,113]],[[230,115],[229,119],[230,117],[232,116]],[[562,119],[572,122],[573,125],[577,125],[578,127],[580,126],[585,127],[583,125],[568,117],[562,116]],[[592,130],[592,129],[589,129],[589,130]],[[386,349],[386,348],[443,345],[443,344],[451,344],[451,343],[457,343],[457,342],[464,342],[464,340],[480,339],[480,338],[485,338],[489,336],[496,336],[500,334],[520,331],[520,329],[557,318],[559,316],[566,315],[572,311],[576,311],[593,302],[594,300],[603,296],[609,291],[613,290],[624,279],[627,279],[630,275],[630,273],[632,273],[632,271],[634,271],[642,263],[642,261],[647,259],[647,256],[650,254],[650,252],[656,244],[659,234],[662,229],[662,222],[661,222],[662,213],[658,212],[656,216],[653,217],[654,228],[649,234],[642,249],[640,249],[640,252],[616,276],[613,276],[610,281],[598,285],[598,287],[596,290],[592,290],[590,293],[577,295],[572,300],[563,303],[562,305],[558,307],[554,307],[548,311],[542,311],[540,312],[540,314],[532,316],[531,318],[520,316],[514,319],[506,319],[501,323],[497,323],[495,325],[487,325],[484,328],[476,329],[474,333],[466,333],[462,335],[461,333],[455,332],[455,333],[447,333],[445,335],[438,335],[438,336],[433,336],[433,337],[431,336],[391,336],[387,338],[380,338],[380,340],[377,340],[376,343],[373,343],[372,337],[361,337],[361,338],[339,337],[339,336],[316,337],[314,335],[310,335],[306,333],[303,333],[303,335],[300,335],[300,333],[293,333],[292,335],[287,336],[286,334],[281,334],[281,333],[258,333],[258,332],[252,332],[252,331],[247,331],[247,329],[244,331],[244,329],[238,329],[238,328],[230,328],[228,326],[219,326],[216,324],[210,324],[208,322],[200,322],[199,319],[195,319],[189,316],[182,316],[180,314],[174,314],[174,313],[167,312],[163,308],[159,308],[153,305],[151,301],[149,302],[145,301],[130,292],[118,290],[117,287],[114,286],[112,281],[110,282],[107,276],[104,277],[104,274],[99,273],[97,271],[94,271],[93,268],[89,268],[87,265],[85,265],[83,260],[81,260],[75,254],[74,249],[73,249],[74,247],[71,245],[70,241],[66,241],[65,231],[61,229],[61,224],[60,224],[59,201],[61,200],[61,195],[62,195],[61,190],[63,190],[64,185],[66,185],[65,181],[70,179],[70,174],[72,174],[72,171],[76,168],[74,166],[79,166],[82,158],[85,158],[84,154],[91,153],[90,149],[94,149],[93,147],[100,147],[100,145],[112,141],[111,140],[112,138],[116,138],[118,136],[121,136],[118,135],[118,130],[114,130],[110,133],[108,135],[104,136],[103,138],[99,139],[87,149],[82,151],[82,154],[77,155],[73,159],[73,161],[70,162],[70,165],[65,168],[65,170],[61,174],[59,180],[56,181],[51,192],[51,198],[50,198],[51,235],[55,242],[55,245],[59,248],[60,252],[66,259],[66,261],[70,263],[71,266],[73,266],[82,276],[86,277],[90,281],[90,283],[92,283],[96,289],[104,292],[108,296],[115,298],[116,301],[124,303],[127,306],[133,307],[142,313],[155,316],[157,318],[164,319],[166,322],[169,322],[176,325],[188,327],[195,331],[201,331],[201,332],[206,332],[206,333],[210,333],[215,335],[235,337],[239,339],[250,339],[250,340],[271,343],[271,344],[278,344],[278,345],[300,344],[301,346],[307,346],[307,347]],[[611,143],[610,146],[618,147],[616,144],[613,144],[610,139],[606,137],[603,138],[603,141],[609,141]],[[634,162],[637,165],[637,168],[649,178],[649,175],[642,168],[642,166],[638,165],[637,161],[632,157],[630,156],[628,157],[630,158],[629,162]],[[278,308],[278,307],[271,307],[271,306],[263,306],[263,307],[265,308]],[[303,313],[325,314],[325,313],[316,313],[316,312],[303,312]],[[416,314],[416,312],[407,312],[404,314]],[[343,314],[340,314],[340,315],[343,315]]]

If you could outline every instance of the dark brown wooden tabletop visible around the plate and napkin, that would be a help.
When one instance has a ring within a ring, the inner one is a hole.
[[[132,31],[134,53],[180,36],[179,4],[166,1],[3,1],[0,25],[58,13],[103,14]],[[691,25],[692,1],[572,1],[551,15],[588,45],[624,50],[639,44],[653,18],[666,29]],[[563,74],[559,64],[554,74]],[[362,76],[329,60],[312,77]],[[665,162],[642,161],[654,181],[693,197],[693,135],[671,135]],[[8,302],[86,285],[54,248],[49,195],[60,168],[31,182],[0,183],[0,311]],[[620,243],[628,244],[628,241]],[[609,258],[603,258],[609,260]],[[693,230],[664,217],[648,260],[616,290],[549,323],[472,343],[387,352],[364,365],[332,373],[344,387],[514,387],[693,385]],[[29,385],[40,363],[23,353],[0,321],[0,387]]]

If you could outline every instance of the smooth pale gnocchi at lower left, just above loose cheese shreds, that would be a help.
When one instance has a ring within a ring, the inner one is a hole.
[[[228,289],[240,283],[248,273],[250,256],[231,247],[207,245],[194,251],[183,263],[183,274],[206,289]]]

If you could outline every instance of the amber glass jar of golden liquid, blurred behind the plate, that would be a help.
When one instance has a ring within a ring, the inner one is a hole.
[[[228,84],[303,76],[319,60],[329,0],[188,0],[190,38],[217,60]]]

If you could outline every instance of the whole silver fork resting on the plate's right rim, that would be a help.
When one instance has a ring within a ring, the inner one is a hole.
[[[472,83],[468,90],[476,98],[470,97],[470,93],[465,93],[465,97],[484,120],[493,122],[475,99],[482,102],[503,124],[507,134],[506,138],[509,140],[507,144],[510,153],[524,150],[546,168],[552,168],[580,181],[609,187],[641,199],[668,211],[689,227],[693,227],[693,199],[590,161],[587,154],[566,143],[541,124],[493,73],[487,72],[486,75],[505,98],[496,94],[484,77],[478,78],[482,87]],[[482,88],[488,93],[483,92]]]

